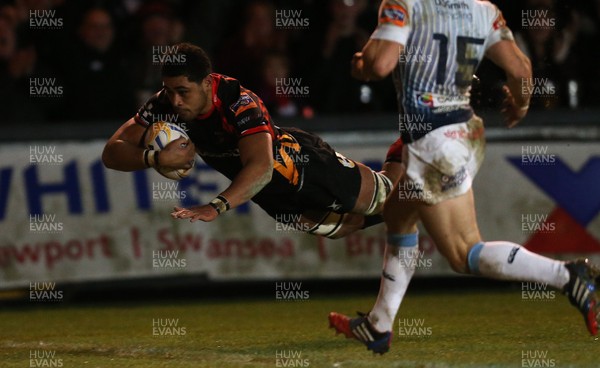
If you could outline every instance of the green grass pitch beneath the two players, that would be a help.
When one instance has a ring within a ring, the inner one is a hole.
[[[579,313],[559,293],[523,300],[518,290],[409,291],[391,350],[383,356],[335,336],[327,323],[330,311],[366,311],[373,301],[374,296],[311,295],[295,302],[269,298],[8,309],[0,311],[0,366],[600,366],[600,341],[588,335]],[[171,333],[161,335],[164,327],[153,330],[157,320],[171,324]]]

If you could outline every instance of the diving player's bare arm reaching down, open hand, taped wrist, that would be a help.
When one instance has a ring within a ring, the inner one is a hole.
[[[249,201],[265,185],[269,184],[273,175],[273,143],[271,135],[268,133],[256,133],[244,137],[238,142],[238,147],[243,168],[233,179],[231,185],[213,201],[214,204],[205,204],[190,208],[175,207],[171,213],[171,217],[176,219],[190,219],[191,222],[198,220],[212,221],[221,212]]]

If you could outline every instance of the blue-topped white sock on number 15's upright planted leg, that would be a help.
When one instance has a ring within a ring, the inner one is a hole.
[[[369,321],[379,332],[392,330],[400,303],[415,273],[418,243],[418,232],[388,234],[379,295],[369,312]]]

